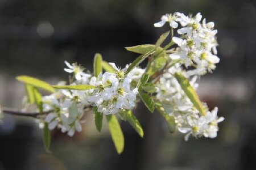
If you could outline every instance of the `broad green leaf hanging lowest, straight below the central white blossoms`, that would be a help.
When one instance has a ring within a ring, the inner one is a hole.
[[[117,118],[113,114],[107,115],[106,118],[108,120],[109,131],[114,142],[115,149],[118,154],[121,154],[123,147],[125,147],[125,139],[123,138],[122,129]]]

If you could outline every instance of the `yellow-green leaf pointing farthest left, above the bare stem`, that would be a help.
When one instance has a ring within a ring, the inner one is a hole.
[[[20,76],[17,76],[16,79],[19,80],[20,82],[29,84],[31,86],[42,88],[43,90],[46,90],[49,92],[55,92],[54,88],[50,84],[42,80],[32,78],[31,76],[20,75]]]

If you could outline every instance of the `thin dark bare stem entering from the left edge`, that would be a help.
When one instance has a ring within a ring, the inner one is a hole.
[[[47,111],[47,112],[42,112],[42,113],[38,113],[38,112],[34,112],[34,113],[28,113],[28,112],[21,112],[18,111],[16,109],[11,109],[11,108],[0,108],[2,113],[7,113],[7,114],[13,114],[13,115],[18,115],[18,116],[27,116],[27,117],[38,117],[39,115],[42,114],[49,114],[52,112],[52,110]]]

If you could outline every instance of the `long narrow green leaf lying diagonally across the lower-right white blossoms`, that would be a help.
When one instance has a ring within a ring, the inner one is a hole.
[[[175,78],[179,82],[181,88],[184,90],[185,94],[188,96],[188,98],[191,100],[195,108],[203,115],[205,116],[205,110],[203,107],[203,104],[201,103],[199,96],[197,96],[196,91],[193,89],[193,87],[190,85],[187,78],[185,78],[180,73],[175,73]]]

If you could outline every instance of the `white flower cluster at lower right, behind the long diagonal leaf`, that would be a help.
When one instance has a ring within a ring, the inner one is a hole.
[[[175,118],[178,130],[181,133],[187,133],[185,141],[188,140],[191,134],[196,138],[202,136],[207,138],[217,137],[217,124],[224,121],[224,117],[217,117],[218,108],[214,108],[212,112],[208,111],[206,104],[204,104],[204,107],[207,109],[207,114],[206,116],[201,115],[173,76],[176,72],[183,72],[185,76],[189,76],[181,69],[179,63],[170,67],[157,84],[157,99],[168,101],[172,108],[172,113],[169,113],[169,115]],[[191,86],[196,89],[198,87],[196,83],[198,76],[194,75],[189,79]]]

